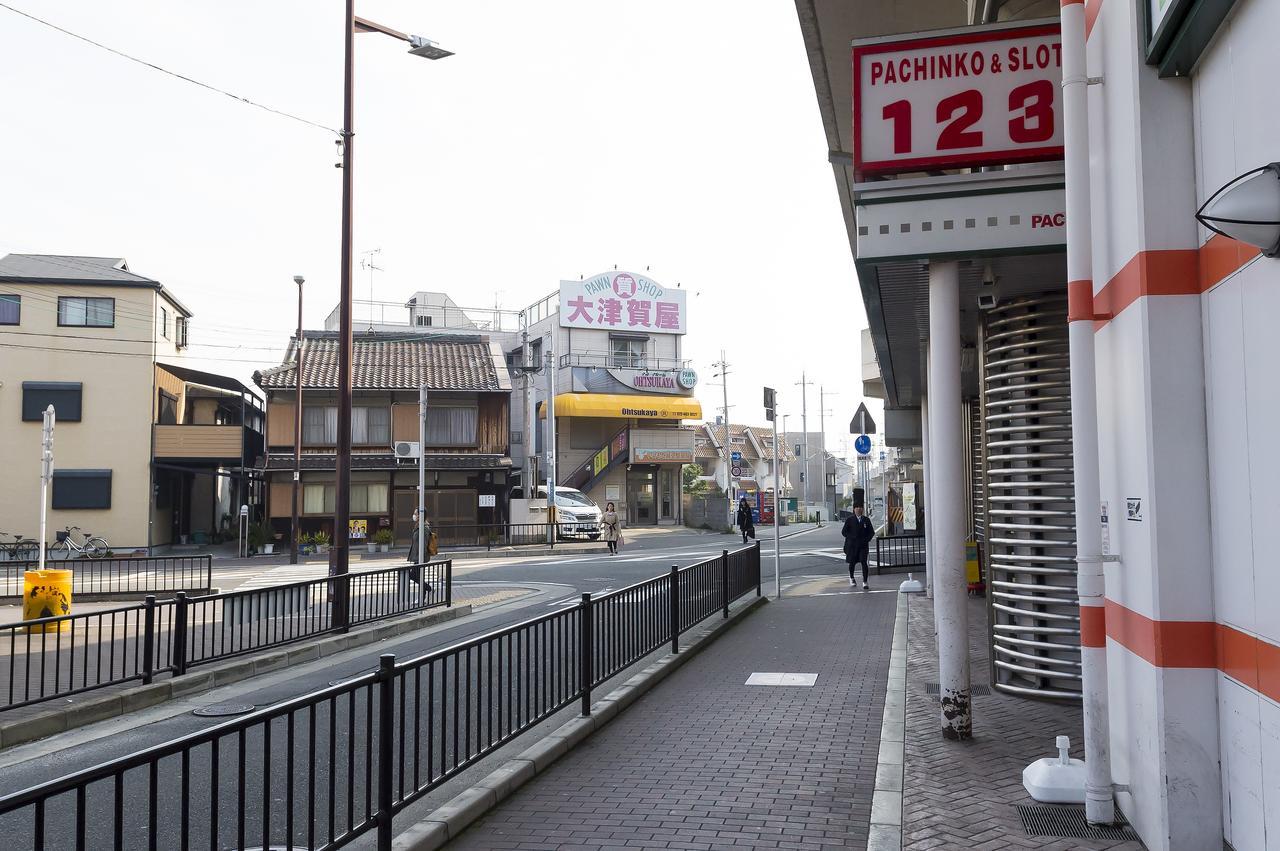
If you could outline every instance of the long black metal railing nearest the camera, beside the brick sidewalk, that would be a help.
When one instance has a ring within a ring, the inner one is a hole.
[[[759,545],[415,659],[383,655],[375,672],[8,795],[0,836],[37,851],[328,851],[376,832],[389,851],[397,813],[575,701],[589,714],[593,687],[678,650],[684,630],[753,589]]]

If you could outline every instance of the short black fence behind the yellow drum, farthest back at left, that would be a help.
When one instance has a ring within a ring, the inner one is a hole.
[[[40,562],[0,562],[0,596],[22,596],[23,575]],[[77,558],[46,561],[50,569],[72,571],[72,596],[170,594],[214,586],[211,555],[156,558]]]

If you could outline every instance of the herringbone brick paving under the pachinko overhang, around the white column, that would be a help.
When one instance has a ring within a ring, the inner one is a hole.
[[[1107,848],[1140,851],[1142,843],[1029,837],[1015,805],[1036,804],[1023,788],[1023,769],[1051,756],[1055,736],[1071,737],[1071,756],[1083,759],[1079,704],[1025,700],[992,692],[973,699],[974,737],[947,742],[938,724],[938,700],[925,691],[938,681],[933,604],[910,596],[906,673],[906,767],[902,799],[904,851]],[[991,683],[986,600],[969,603],[969,659],[973,685]]]

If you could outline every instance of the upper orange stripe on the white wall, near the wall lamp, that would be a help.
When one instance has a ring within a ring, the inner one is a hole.
[[[1221,234],[1199,250],[1142,251],[1093,296],[1094,330],[1144,296],[1198,296],[1216,287],[1261,251]],[[1070,284],[1068,284],[1070,297]]]

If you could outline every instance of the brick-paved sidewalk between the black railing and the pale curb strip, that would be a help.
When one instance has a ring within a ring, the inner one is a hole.
[[[895,603],[771,603],[449,847],[865,847]],[[818,681],[744,685],[753,672]]]

